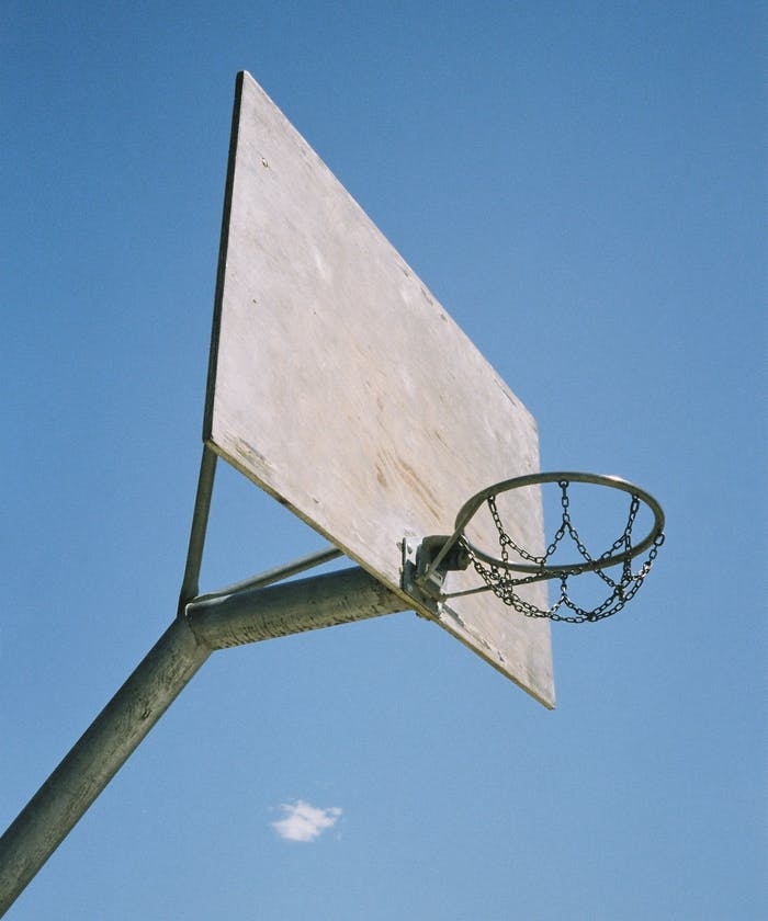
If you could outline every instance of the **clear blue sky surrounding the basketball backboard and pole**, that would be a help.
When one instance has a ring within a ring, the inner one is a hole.
[[[0,826],[176,611],[240,69],[535,416],[542,466],[667,514],[633,604],[553,628],[552,713],[410,613],[216,653],[8,917],[765,917],[760,4],[0,22]],[[219,465],[204,589],[323,546]]]

